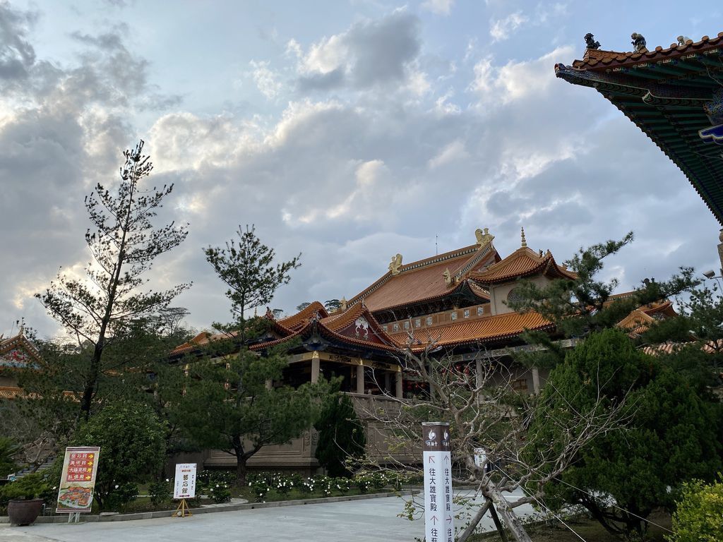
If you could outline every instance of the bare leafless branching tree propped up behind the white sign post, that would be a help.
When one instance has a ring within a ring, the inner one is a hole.
[[[524,368],[516,366],[509,356],[491,356],[480,345],[474,359],[459,361],[429,338],[421,352],[411,348],[404,351],[407,374],[418,379],[419,393],[407,400],[385,395],[385,400],[398,402],[400,408],[380,408],[372,399],[362,413],[382,426],[385,434],[385,449],[370,450],[369,457],[375,460],[368,466],[421,474],[419,465],[409,462],[410,457],[421,457],[419,424],[448,421],[453,463],[458,467],[455,482],[474,484],[485,501],[458,542],[466,541],[488,510],[498,529],[502,527],[496,511],[515,540],[530,542],[514,509],[541,502],[545,483],[559,476],[596,436],[623,426],[630,416],[630,405],[624,399],[609,403],[603,393],[606,382],[591,383],[597,387],[597,399],[584,411],[572,407],[573,397],[568,393],[575,391],[552,390],[542,396],[515,392],[513,382]],[[544,402],[549,406],[551,401],[556,409],[543,408]],[[543,411],[547,416],[544,426],[533,423]],[[531,431],[549,435],[533,435]],[[541,438],[548,438],[546,449],[539,447]],[[536,446],[531,447],[531,441]],[[486,459],[478,465],[475,450],[480,448]],[[516,489],[522,489],[523,496],[508,502],[505,494]]]

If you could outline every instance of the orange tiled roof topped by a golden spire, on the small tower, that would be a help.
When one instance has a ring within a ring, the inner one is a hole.
[[[486,270],[471,273],[470,278],[479,284],[490,285],[539,274],[576,278],[575,273],[555,263],[555,258],[552,257],[550,251],[539,254],[527,246],[515,250],[501,262],[490,265]]]

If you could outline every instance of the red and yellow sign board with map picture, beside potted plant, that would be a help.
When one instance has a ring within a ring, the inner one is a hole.
[[[90,512],[99,455],[99,447],[65,449],[56,512]]]

